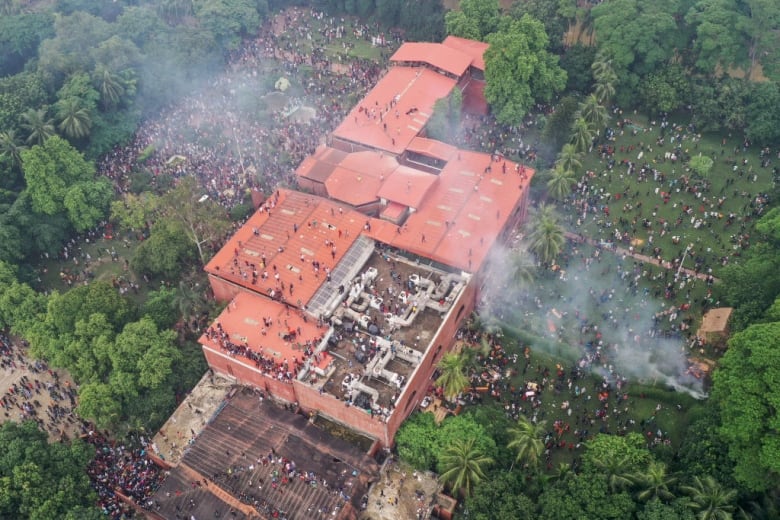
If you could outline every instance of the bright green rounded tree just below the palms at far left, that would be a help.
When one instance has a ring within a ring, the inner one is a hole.
[[[33,209],[46,215],[64,213],[66,194],[76,184],[94,180],[95,175],[95,166],[56,136],[24,150],[22,165]]]

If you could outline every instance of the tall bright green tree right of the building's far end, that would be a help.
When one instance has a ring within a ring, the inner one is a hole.
[[[517,124],[534,103],[551,101],[566,86],[566,72],[547,51],[540,21],[524,15],[489,35],[487,42],[485,99],[500,123]]]

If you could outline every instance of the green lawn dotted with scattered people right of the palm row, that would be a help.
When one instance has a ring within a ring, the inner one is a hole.
[[[570,206],[567,223],[597,240],[613,240],[620,230],[627,239],[622,245],[633,243],[648,255],[659,247],[665,260],[681,256],[692,246],[685,267],[693,268],[699,258],[702,267],[712,268],[717,276],[724,262],[738,261],[749,246],[756,197],[773,189],[771,168],[761,167],[757,147],[743,149],[737,137],[699,135],[685,121],[672,122],[663,131],[657,121],[633,114],[629,118],[632,123],[622,130],[616,127],[616,117],[610,122],[615,139],[604,144],[615,150],[611,169],[609,158],[598,149],[583,160],[589,196],[598,209],[583,218],[581,208]],[[675,137],[674,143],[670,137]],[[711,157],[712,170],[702,178],[683,161],[665,158],[678,150],[682,157]],[[625,161],[636,164],[633,174],[627,173]],[[653,173],[640,178],[639,169],[645,164],[659,172],[657,179]],[[734,218],[729,219],[730,214]]]

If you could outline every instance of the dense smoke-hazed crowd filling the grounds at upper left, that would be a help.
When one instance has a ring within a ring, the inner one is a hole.
[[[296,34],[311,34],[316,21],[332,41],[346,41],[347,32],[368,30],[350,21],[336,25],[336,20],[311,11],[295,11],[294,19],[291,16],[287,20],[295,24]],[[99,171],[114,181],[119,192],[126,192],[139,156],[153,147],[143,167],[155,177],[194,175],[209,196],[226,208],[241,203],[249,188],[271,193],[278,185],[293,185],[297,165],[351,108],[346,97],[364,94],[382,71],[378,63],[358,58],[334,68],[327,56],[323,47],[309,52],[293,44],[289,31],[277,34],[272,25],[264,26],[256,39],[230,55],[228,72],[208,88],[145,120],[128,145],[102,158]],[[307,71],[312,68],[308,76],[302,73],[304,66]],[[256,97],[266,76],[274,74],[298,78],[303,83],[302,98],[288,101],[265,118],[246,113],[240,98]],[[289,112],[297,105],[317,107],[316,116],[296,119]]]

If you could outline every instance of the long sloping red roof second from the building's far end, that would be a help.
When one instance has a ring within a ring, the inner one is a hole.
[[[456,80],[426,68],[391,67],[333,131],[369,148],[401,154],[446,97]]]

